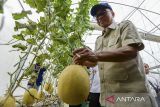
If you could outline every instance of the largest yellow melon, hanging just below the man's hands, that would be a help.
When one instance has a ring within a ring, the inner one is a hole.
[[[78,105],[88,97],[90,89],[89,75],[80,65],[69,65],[58,80],[58,96],[70,105]]]

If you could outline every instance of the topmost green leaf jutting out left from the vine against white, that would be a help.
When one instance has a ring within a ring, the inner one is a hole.
[[[31,14],[31,13],[32,13],[31,11],[22,11],[21,13],[12,14],[12,16],[15,20],[19,20],[19,19],[26,17],[28,14]]]

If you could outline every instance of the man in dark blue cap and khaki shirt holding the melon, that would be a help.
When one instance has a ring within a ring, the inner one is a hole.
[[[139,51],[144,45],[130,21],[116,24],[108,3],[94,5],[91,15],[103,27],[95,43],[95,52],[80,48],[73,52],[74,63],[98,64],[101,82],[101,105],[107,107],[156,107],[148,91]],[[142,94],[143,93],[143,94]],[[112,101],[108,98],[113,96]],[[117,101],[117,98],[144,98],[141,102]]]

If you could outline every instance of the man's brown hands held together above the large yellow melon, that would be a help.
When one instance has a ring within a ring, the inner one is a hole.
[[[97,57],[94,52],[88,48],[79,48],[73,52],[73,61],[75,64],[84,66],[95,66],[97,64]]]

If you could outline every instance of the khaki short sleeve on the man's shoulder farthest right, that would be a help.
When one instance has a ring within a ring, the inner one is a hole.
[[[121,28],[122,46],[126,45],[143,45],[137,29],[130,21],[125,21]]]

